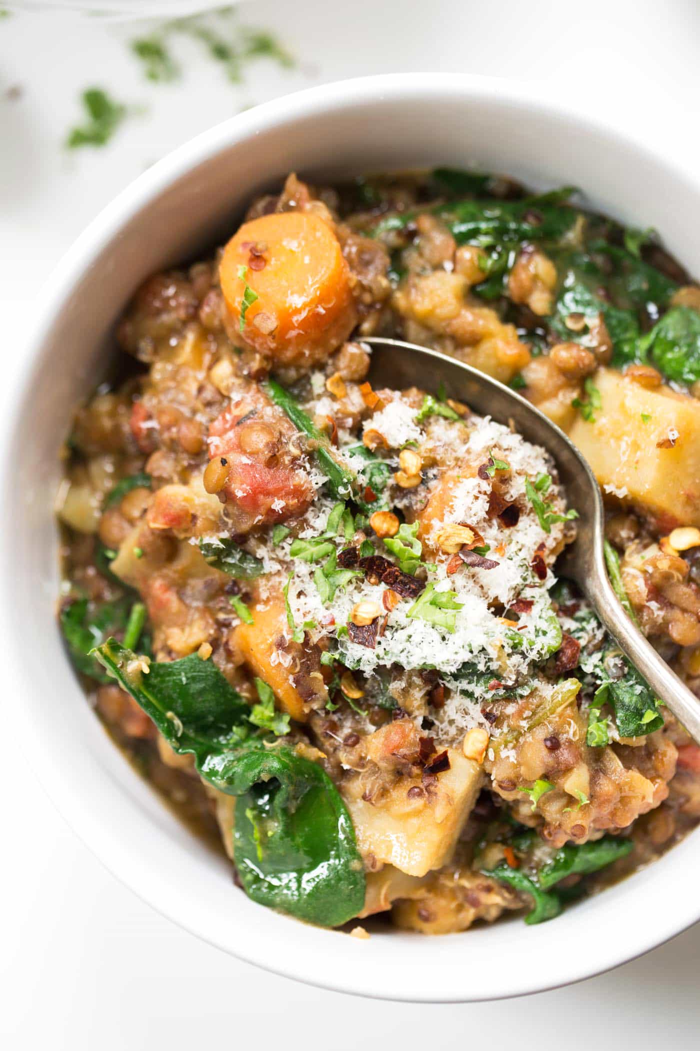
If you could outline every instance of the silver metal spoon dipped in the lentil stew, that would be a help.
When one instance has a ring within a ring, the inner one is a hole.
[[[515,391],[484,372],[433,350],[401,339],[373,336],[369,379],[375,387],[420,387],[437,393],[441,384],[450,397],[465,401],[480,415],[515,430],[551,453],[566,489],[569,506],[578,512],[577,534],[559,556],[557,570],[574,580],[620,650],[649,682],[660,700],[700,742],[700,700],[659,657],[627,615],[608,579],[603,557],[603,508],[593,472],[567,435]]]

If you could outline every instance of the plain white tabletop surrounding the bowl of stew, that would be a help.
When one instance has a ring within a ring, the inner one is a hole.
[[[183,81],[150,84],[126,46],[131,26],[56,15],[0,20],[0,398],[13,396],[41,283],[83,226],[153,161],[252,103],[360,74],[489,74],[540,82],[643,129],[690,167],[700,162],[695,0],[257,0],[240,8],[246,24],[276,28],[297,68],[259,62],[234,86],[182,40]],[[93,84],[142,112],[108,148],[67,153],[62,142],[80,116],[79,94]],[[21,697],[0,696],[9,735],[0,763],[0,1044],[8,1051],[282,1042],[291,1051],[698,1046],[700,927],[611,974],[499,1004],[359,1001],[238,963],[161,918],[101,867],[54,810],[50,785],[47,797],[34,781],[22,750],[28,743],[12,736],[10,709]]]

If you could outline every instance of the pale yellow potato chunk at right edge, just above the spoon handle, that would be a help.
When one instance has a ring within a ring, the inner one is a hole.
[[[569,435],[600,485],[650,511],[664,531],[700,526],[700,401],[667,387],[646,390],[612,369],[598,369],[593,384],[595,419],[578,415]]]

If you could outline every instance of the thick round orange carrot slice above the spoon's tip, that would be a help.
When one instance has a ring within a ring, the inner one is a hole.
[[[219,267],[233,342],[282,365],[317,365],[357,321],[351,273],[331,226],[284,211],[243,223]]]

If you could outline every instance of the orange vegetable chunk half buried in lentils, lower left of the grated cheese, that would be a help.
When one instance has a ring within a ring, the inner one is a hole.
[[[290,668],[279,660],[273,663],[273,656],[278,656],[275,640],[287,627],[282,595],[270,596],[259,605],[252,606],[251,613],[253,623],[241,623],[236,628],[236,642],[243,660],[254,675],[272,686],[283,710],[293,719],[305,722],[304,702],[292,682]]]

